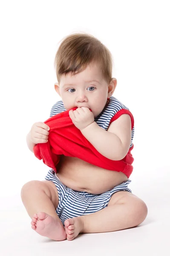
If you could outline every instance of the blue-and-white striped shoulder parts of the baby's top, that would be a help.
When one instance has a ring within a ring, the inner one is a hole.
[[[125,105],[123,105],[118,99],[111,96],[110,99],[109,99],[109,104],[107,105],[107,107],[105,107],[103,109],[103,111],[98,116],[95,117],[95,122],[101,128],[107,130],[108,127],[109,127],[110,120],[121,109],[129,110],[129,108],[127,108]],[[63,111],[66,111],[66,109],[63,105],[63,101],[60,100],[52,106],[52,109],[50,111],[50,117],[54,116],[58,113],[62,113]],[[134,137],[134,126],[133,126],[133,129],[132,129],[132,132],[131,132],[130,148],[133,146],[133,137]]]

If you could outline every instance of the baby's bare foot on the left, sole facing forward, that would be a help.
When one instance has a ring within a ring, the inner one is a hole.
[[[38,212],[32,218],[32,229],[41,236],[47,236],[56,241],[66,239],[66,231],[63,224],[57,218],[52,217],[45,212]]]

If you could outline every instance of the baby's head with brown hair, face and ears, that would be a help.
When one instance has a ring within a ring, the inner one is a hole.
[[[86,33],[69,35],[58,48],[55,67],[55,90],[65,109],[87,107],[98,116],[117,85],[107,47]]]

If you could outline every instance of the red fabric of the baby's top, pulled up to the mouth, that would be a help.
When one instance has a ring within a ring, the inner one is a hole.
[[[72,108],[72,110],[75,109],[77,107]],[[115,161],[104,157],[86,140],[81,131],[73,124],[72,119],[69,117],[69,111],[58,113],[44,122],[50,127],[48,142],[38,143],[34,146],[33,151],[35,156],[39,160],[42,159],[43,163],[55,172],[57,172],[56,166],[59,163],[60,155],[63,154],[69,157],[78,157],[81,160],[107,170],[123,172],[129,178],[133,171],[132,163],[134,159],[131,154],[133,146],[122,160]],[[133,115],[126,109],[118,111],[112,117],[110,123],[125,113],[130,115],[133,129]]]

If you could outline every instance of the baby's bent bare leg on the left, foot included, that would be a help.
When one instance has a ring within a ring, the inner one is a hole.
[[[66,239],[63,224],[55,212],[58,207],[58,191],[52,181],[29,181],[21,189],[21,198],[32,218],[33,230],[56,241]]]

